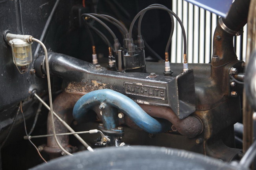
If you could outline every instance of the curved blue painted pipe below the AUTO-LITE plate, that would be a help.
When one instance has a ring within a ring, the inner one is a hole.
[[[110,89],[91,91],[83,95],[74,106],[74,119],[77,121],[83,120],[87,117],[88,111],[93,106],[100,105],[101,102],[105,102],[108,106],[118,108],[148,133],[165,132],[171,128],[171,122],[164,119],[154,119],[132,99]]]

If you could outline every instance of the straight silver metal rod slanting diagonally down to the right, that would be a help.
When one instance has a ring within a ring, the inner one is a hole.
[[[50,111],[50,107],[48,106],[48,104],[46,104],[45,101],[43,101],[43,99],[41,99],[41,97],[39,97],[36,93],[34,93],[34,96],[43,103],[43,105]],[[65,121],[63,121],[54,111],[53,111],[53,115],[70,131],[70,132],[75,132],[70,126],[69,124],[67,124]],[[87,144],[82,137],[80,137],[78,134],[74,134],[74,136],[78,139],[78,141],[80,141],[83,146],[85,146],[90,152],[94,152],[93,148],[91,148],[91,146],[89,146],[89,144]]]

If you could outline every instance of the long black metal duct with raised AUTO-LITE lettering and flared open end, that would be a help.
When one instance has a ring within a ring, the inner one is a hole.
[[[39,57],[38,60],[43,62],[43,57]],[[132,91],[133,93],[126,95],[137,103],[171,107],[180,119],[195,111],[193,70],[180,73],[176,77],[158,75],[152,78],[149,77],[148,73],[120,73],[109,71],[104,67],[96,69],[94,64],[59,53],[49,53],[49,66],[51,75],[59,76],[65,80],[65,85],[69,87],[66,91],[70,93],[81,94],[100,88],[108,88],[125,94],[128,92],[128,86],[125,86],[125,83],[131,83],[135,85],[135,90]],[[141,95],[141,87],[144,88],[144,86],[154,88],[154,93],[152,91],[143,91],[143,93],[147,93],[147,96],[151,95],[151,97]],[[161,94],[159,88],[165,89],[163,94]],[[156,95],[165,95],[165,100],[152,98],[152,96]]]

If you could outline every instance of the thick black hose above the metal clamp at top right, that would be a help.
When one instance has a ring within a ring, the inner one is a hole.
[[[247,23],[250,0],[235,0],[223,23],[233,31],[239,31]]]

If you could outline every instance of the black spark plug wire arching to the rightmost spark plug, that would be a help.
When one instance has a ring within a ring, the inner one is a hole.
[[[167,11],[167,12],[171,13],[171,14],[178,20],[178,22],[179,22],[179,24],[180,24],[180,27],[181,27],[181,29],[182,29],[183,42],[184,42],[184,54],[187,54],[187,38],[186,38],[186,32],[185,32],[184,26],[183,26],[183,24],[182,24],[182,21],[180,20],[180,18],[179,18],[173,11],[171,11],[170,9],[167,9],[167,8],[165,8],[165,7],[158,7],[158,6],[147,7],[147,8],[145,8],[145,9],[141,10],[139,13],[137,13],[137,15],[134,17],[134,19],[132,20],[132,23],[131,23],[131,25],[130,25],[130,29],[129,29],[129,39],[130,39],[130,40],[132,39],[132,28],[133,28],[133,26],[134,26],[135,21],[137,20],[137,18],[138,18],[141,14],[145,13],[146,11],[148,11],[148,10],[150,10],[150,9],[162,9],[162,10],[164,10],[164,11]]]

